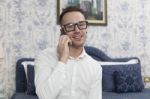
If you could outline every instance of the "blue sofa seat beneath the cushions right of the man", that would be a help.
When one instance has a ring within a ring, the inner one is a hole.
[[[102,92],[102,99],[150,99],[150,89],[144,89],[142,92],[116,93]]]

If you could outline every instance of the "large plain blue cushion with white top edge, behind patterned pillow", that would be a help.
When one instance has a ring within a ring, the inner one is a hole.
[[[136,60],[136,61],[135,61]],[[141,73],[139,60],[131,59],[127,62],[101,62],[102,66],[102,87],[103,91],[115,91],[115,83],[113,73],[126,68],[137,68]]]

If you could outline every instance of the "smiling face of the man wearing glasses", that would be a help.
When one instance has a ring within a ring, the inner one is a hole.
[[[63,26],[64,25],[64,26]],[[72,47],[82,47],[86,40],[85,17],[80,12],[68,12],[63,16],[62,28],[72,41]]]

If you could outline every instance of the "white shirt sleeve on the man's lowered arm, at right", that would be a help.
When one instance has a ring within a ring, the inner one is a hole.
[[[100,65],[98,67],[93,77],[88,99],[102,99],[102,68]]]

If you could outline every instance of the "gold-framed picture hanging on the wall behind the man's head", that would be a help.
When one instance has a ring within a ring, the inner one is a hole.
[[[107,25],[107,0],[57,0],[57,15],[68,6],[80,7],[89,24]]]

